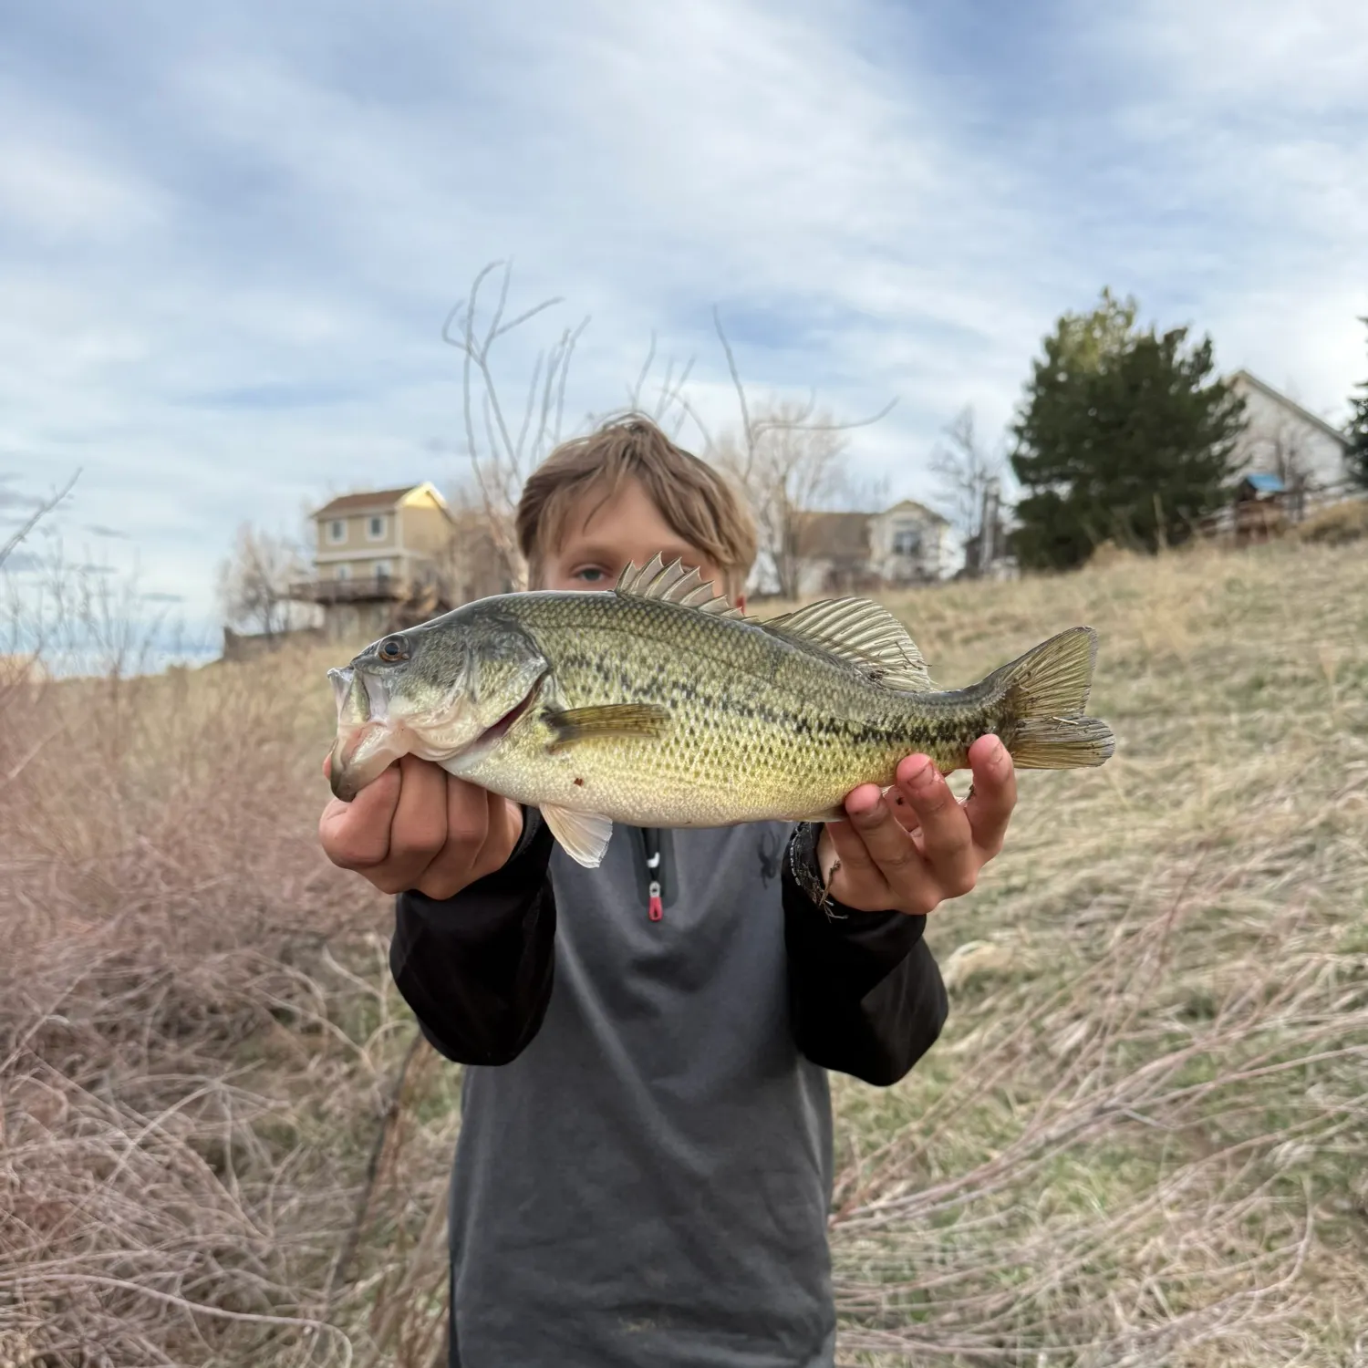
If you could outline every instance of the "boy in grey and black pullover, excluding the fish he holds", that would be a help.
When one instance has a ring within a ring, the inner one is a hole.
[[[741,605],[755,555],[725,482],[640,417],[551,453],[517,531],[542,588],[659,553]],[[833,1364],[826,1070],[893,1083],[940,1033],[926,915],[1015,804],[996,737],[970,761],[964,804],[912,755],[847,821],[618,828],[595,870],[413,757],[328,803],[324,850],[398,895],[395,982],[468,1066],[453,1368]]]

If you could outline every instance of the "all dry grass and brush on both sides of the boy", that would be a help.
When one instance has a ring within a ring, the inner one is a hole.
[[[1368,564],[896,606],[949,684],[1092,622],[1120,744],[937,914],[936,1051],[837,1082],[845,1361],[1368,1363]],[[457,1071],[316,850],[323,663],[0,677],[5,1368],[436,1361]]]

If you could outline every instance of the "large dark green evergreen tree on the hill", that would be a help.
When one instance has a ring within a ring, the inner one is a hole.
[[[1034,363],[1012,427],[1025,566],[1067,569],[1108,539],[1175,544],[1227,498],[1244,401],[1213,376],[1209,338],[1141,331],[1137,312],[1104,290],[1092,313],[1059,320]]]

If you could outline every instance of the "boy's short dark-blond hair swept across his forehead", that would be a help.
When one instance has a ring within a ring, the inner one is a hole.
[[[718,471],[639,413],[562,442],[528,476],[517,506],[517,542],[532,583],[540,580],[547,553],[561,544],[570,509],[590,492],[602,495],[595,509],[602,508],[629,479],[639,480],[669,527],[722,572],[728,594],[739,594],[755,562],[750,509]]]

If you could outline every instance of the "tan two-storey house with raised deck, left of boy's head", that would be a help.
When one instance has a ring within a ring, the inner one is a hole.
[[[312,517],[313,576],[290,596],[323,607],[331,640],[383,636],[510,587],[484,520],[453,514],[431,483],[343,494]]]

